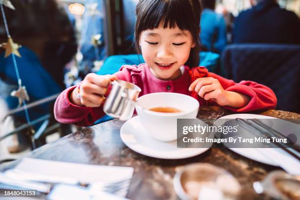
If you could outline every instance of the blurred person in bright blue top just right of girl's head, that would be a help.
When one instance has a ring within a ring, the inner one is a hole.
[[[226,24],[222,15],[214,10],[216,0],[200,0],[203,11],[200,21],[202,50],[221,53],[226,45]]]

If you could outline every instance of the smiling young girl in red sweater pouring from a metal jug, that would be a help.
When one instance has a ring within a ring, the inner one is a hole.
[[[146,63],[125,65],[114,75],[88,74],[63,91],[54,106],[61,123],[93,125],[104,115],[103,95],[109,82],[122,79],[142,89],[190,95],[200,105],[224,106],[234,112],[275,108],[274,92],[251,81],[235,83],[209,73],[199,63],[199,0],[140,0],[136,6],[136,47]]]

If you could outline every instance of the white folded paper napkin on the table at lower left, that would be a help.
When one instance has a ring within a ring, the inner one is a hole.
[[[23,158],[15,167],[17,170],[43,174],[55,177],[68,177],[79,182],[89,183],[91,191],[97,191],[97,182],[114,182],[131,179],[133,175],[132,167],[87,165],[70,162],[59,162],[42,160],[35,158]],[[125,197],[129,184],[118,195]]]

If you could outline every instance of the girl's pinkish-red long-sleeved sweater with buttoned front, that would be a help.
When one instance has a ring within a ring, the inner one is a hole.
[[[197,72],[198,71],[198,72]],[[206,101],[188,90],[190,84],[197,77],[214,77],[217,78],[223,88],[227,91],[239,92],[251,98],[250,102],[242,108],[233,108],[224,106],[225,109],[233,112],[249,112],[252,110],[273,109],[276,106],[276,97],[274,92],[261,84],[252,81],[241,81],[235,83],[233,80],[228,80],[220,75],[209,73],[206,68],[198,67],[195,71],[189,71],[187,66],[184,67],[184,73],[175,80],[160,80],[153,76],[147,64],[125,65],[122,66],[119,72],[115,73],[119,79],[131,82],[142,89],[139,96],[155,93],[155,92],[175,92],[193,96],[198,99],[200,106],[202,105],[217,105],[214,101]],[[194,74],[193,74],[194,73]],[[56,99],[54,105],[55,119],[63,124],[75,124],[81,126],[93,125],[94,122],[104,115],[102,106],[90,108],[77,106],[70,102],[69,94],[74,90],[75,86],[64,90]]]

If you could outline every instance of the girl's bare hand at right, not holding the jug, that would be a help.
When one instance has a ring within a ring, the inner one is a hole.
[[[204,77],[196,79],[189,87],[204,100],[216,101],[219,105],[228,105],[228,92],[225,91],[218,79]]]

